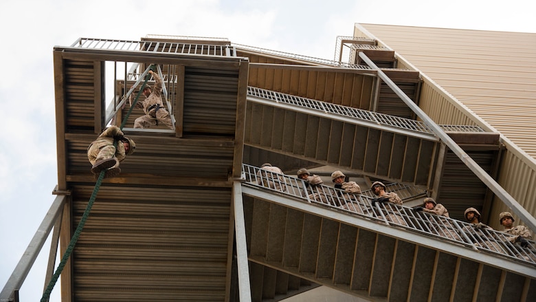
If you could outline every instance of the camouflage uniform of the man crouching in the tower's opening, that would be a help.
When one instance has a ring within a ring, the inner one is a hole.
[[[144,109],[145,115],[136,118],[134,128],[149,128],[156,126],[158,122],[163,122],[170,129],[174,129],[171,116],[162,103],[162,79],[156,72],[153,72],[153,78],[155,86],[151,89],[150,95],[141,104],[136,103],[136,107]]]

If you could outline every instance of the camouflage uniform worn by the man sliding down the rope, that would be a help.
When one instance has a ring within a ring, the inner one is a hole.
[[[89,145],[87,148],[87,158],[91,164],[95,164],[100,160],[108,160],[115,156],[117,160],[111,168],[116,168],[119,166],[119,162],[124,160],[125,152],[123,142],[118,140],[117,147],[113,147],[114,136],[123,136],[123,131],[117,126],[110,126],[102,131],[100,136]]]

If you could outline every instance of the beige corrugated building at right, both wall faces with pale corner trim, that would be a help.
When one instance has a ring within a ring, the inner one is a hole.
[[[400,68],[421,72],[419,105],[436,123],[500,132],[498,182],[536,214],[536,34],[356,23],[354,36],[377,39]],[[495,199],[490,218],[508,211]]]

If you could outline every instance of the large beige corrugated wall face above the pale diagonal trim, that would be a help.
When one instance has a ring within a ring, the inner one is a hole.
[[[536,34],[361,25],[536,157]]]

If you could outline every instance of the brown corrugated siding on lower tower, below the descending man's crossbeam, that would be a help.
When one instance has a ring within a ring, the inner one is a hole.
[[[73,187],[73,229],[92,191]],[[74,301],[225,301],[230,200],[230,188],[104,184],[74,249]]]

